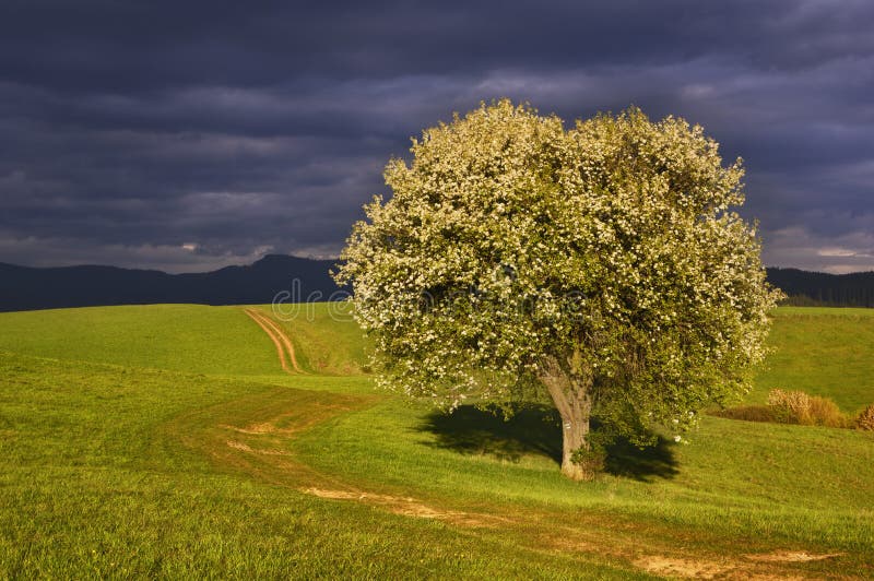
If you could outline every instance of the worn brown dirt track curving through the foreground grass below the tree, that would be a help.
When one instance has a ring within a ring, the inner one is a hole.
[[[630,570],[688,579],[810,579],[822,569],[805,570],[808,561],[839,554],[798,550],[739,554],[721,544],[736,540],[713,534],[712,544],[690,547],[688,531],[658,522],[598,511],[562,511],[511,502],[465,502],[418,497],[397,487],[357,483],[305,462],[294,440],[303,432],[377,404],[382,396],[277,388],[192,411],[166,425],[169,435],[210,458],[222,472],[237,473],[272,485],[338,502],[356,502],[393,514],[433,519],[459,526],[483,542],[503,540],[509,547],[535,553],[624,564]],[[556,523],[564,523],[556,526]],[[686,535],[684,537],[684,534]],[[706,535],[695,532],[694,536]],[[734,544],[734,545],[733,545]],[[800,558],[804,556],[805,558]],[[835,566],[838,566],[838,562]],[[818,574],[817,574],[818,573]]]

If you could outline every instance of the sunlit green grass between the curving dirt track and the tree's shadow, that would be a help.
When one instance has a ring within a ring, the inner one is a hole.
[[[294,449],[308,464],[342,472],[361,485],[378,475],[394,494],[414,487],[418,496],[452,497],[468,506],[521,502],[556,518],[594,510],[830,550],[874,546],[869,434],[708,417],[693,443],[663,444],[645,465],[619,465],[619,475],[577,484],[542,453],[517,459],[489,450],[460,453],[446,435],[473,427],[459,422],[428,429],[428,416],[426,408],[385,402],[317,426],[295,440]]]

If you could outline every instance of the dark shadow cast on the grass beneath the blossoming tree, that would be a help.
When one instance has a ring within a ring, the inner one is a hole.
[[[597,424],[593,425],[597,429]],[[417,428],[433,434],[436,448],[465,455],[491,455],[519,462],[523,455],[544,455],[562,463],[562,428],[554,408],[531,406],[517,411],[509,419],[498,413],[462,405],[451,414],[429,413]],[[677,474],[674,443],[659,437],[649,448],[639,449],[627,439],[606,447],[605,472],[641,482]]]

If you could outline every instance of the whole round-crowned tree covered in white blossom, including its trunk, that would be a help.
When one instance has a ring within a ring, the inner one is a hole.
[[[678,438],[747,389],[778,293],[732,210],[740,161],[723,167],[700,127],[631,108],[565,130],[500,100],[411,152],[336,273],[382,384],[448,407],[548,396],[576,479],[595,470],[593,415]]]

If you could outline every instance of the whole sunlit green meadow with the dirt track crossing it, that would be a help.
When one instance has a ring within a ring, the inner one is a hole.
[[[0,577],[874,577],[871,432],[707,416],[572,483],[542,411],[375,390],[335,308],[260,307],[294,375],[240,307],[0,313]],[[749,403],[874,402],[874,311],[770,341]]]

